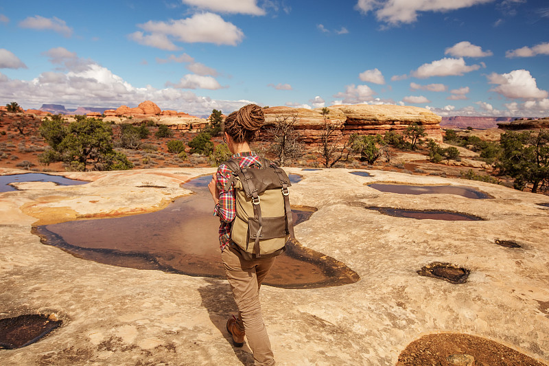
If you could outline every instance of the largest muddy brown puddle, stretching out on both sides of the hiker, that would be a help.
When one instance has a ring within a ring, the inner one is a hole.
[[[301,176],[290,174],[294,181]],[[76,220],[35,227],[45,244],[78,258],[138,269],[225,278],[218,240],[219,218],[207,184],[211,176],[185,183],[196,192],[161,211],[122,218]],[[292,207],[295,225],[316,209]],[[265,284],[282,288],[318,288],[358,281],[350,268],[296,242],[279,255]]]

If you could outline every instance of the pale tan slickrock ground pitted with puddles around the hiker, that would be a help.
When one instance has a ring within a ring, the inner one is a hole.
[[[361,279],[308,290],[261,288],[279,365],[395,365],[408,344],[436,332],[482,336],[548,363],[549,209],[537,205],[549,203],[547,196],[396,172],[287,170],[304,177],[291,187],[292,203],[318,208],[296,226],[296,237]],[[37,220],[160,209],[189,194],[181,182],[214,171],[71,172],[63,175],[93,183],[35,183],[1,193],[0,317],[55,313],[63,325],[27,347],[0,350],[0,365],[253,365],[248,347],[233,348],[225,330],[236,311],[226,281],[82,260],[31,233]],[[494,198],[382,193],[366,186],[374,182],[467,185]],[[445,209],[485,220],[395,218],[366,206]],[[432,262],[471,274],[465,284],[451,284],[416,273]]]

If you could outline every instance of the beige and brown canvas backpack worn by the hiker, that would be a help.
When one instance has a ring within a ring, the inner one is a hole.
[[[237,159],[225,165],[233,175],[224,190],[235,183],[236,216],[231,240],[247,260],[273,257],[285,251],[294,239],[294,224],[288,187],[288,175],[267,159],[260,158],[262,168],[240,168]]]

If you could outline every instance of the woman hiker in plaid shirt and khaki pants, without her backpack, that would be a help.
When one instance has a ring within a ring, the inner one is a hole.
[[[240,162],[241,168],[261,168],[261,159],[250,150],[249,143],[255,139],[255,134],[264,122],[263,109],[255,104],[243,106],[226,117],[223,140],[233,153],[232,157]],[[259,304],[259,288],[274,263],[274,257],[246,260],[237,244],[231,242],[231,225],[236,215],[235,191],[233,185],[226,191],[224,187],[232,174],[225,164],[221,164],[208,185],[215,203],[214,214],[220,218],[221,258],[239,310],[238,317],[229,319],[226,328],[233,336],[235,347],[244,345],[246,334],[255,365],[274,365]]]

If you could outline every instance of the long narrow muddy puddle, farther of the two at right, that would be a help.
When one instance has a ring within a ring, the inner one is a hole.
[[[374,190],[398,194],[456,194],[465,198],[487,199],[493,198],[487,193],[476,190],[472,187],[463,187],[457,185],[408,185],[408,184],[388,184],[373,183],[368,187]]]

